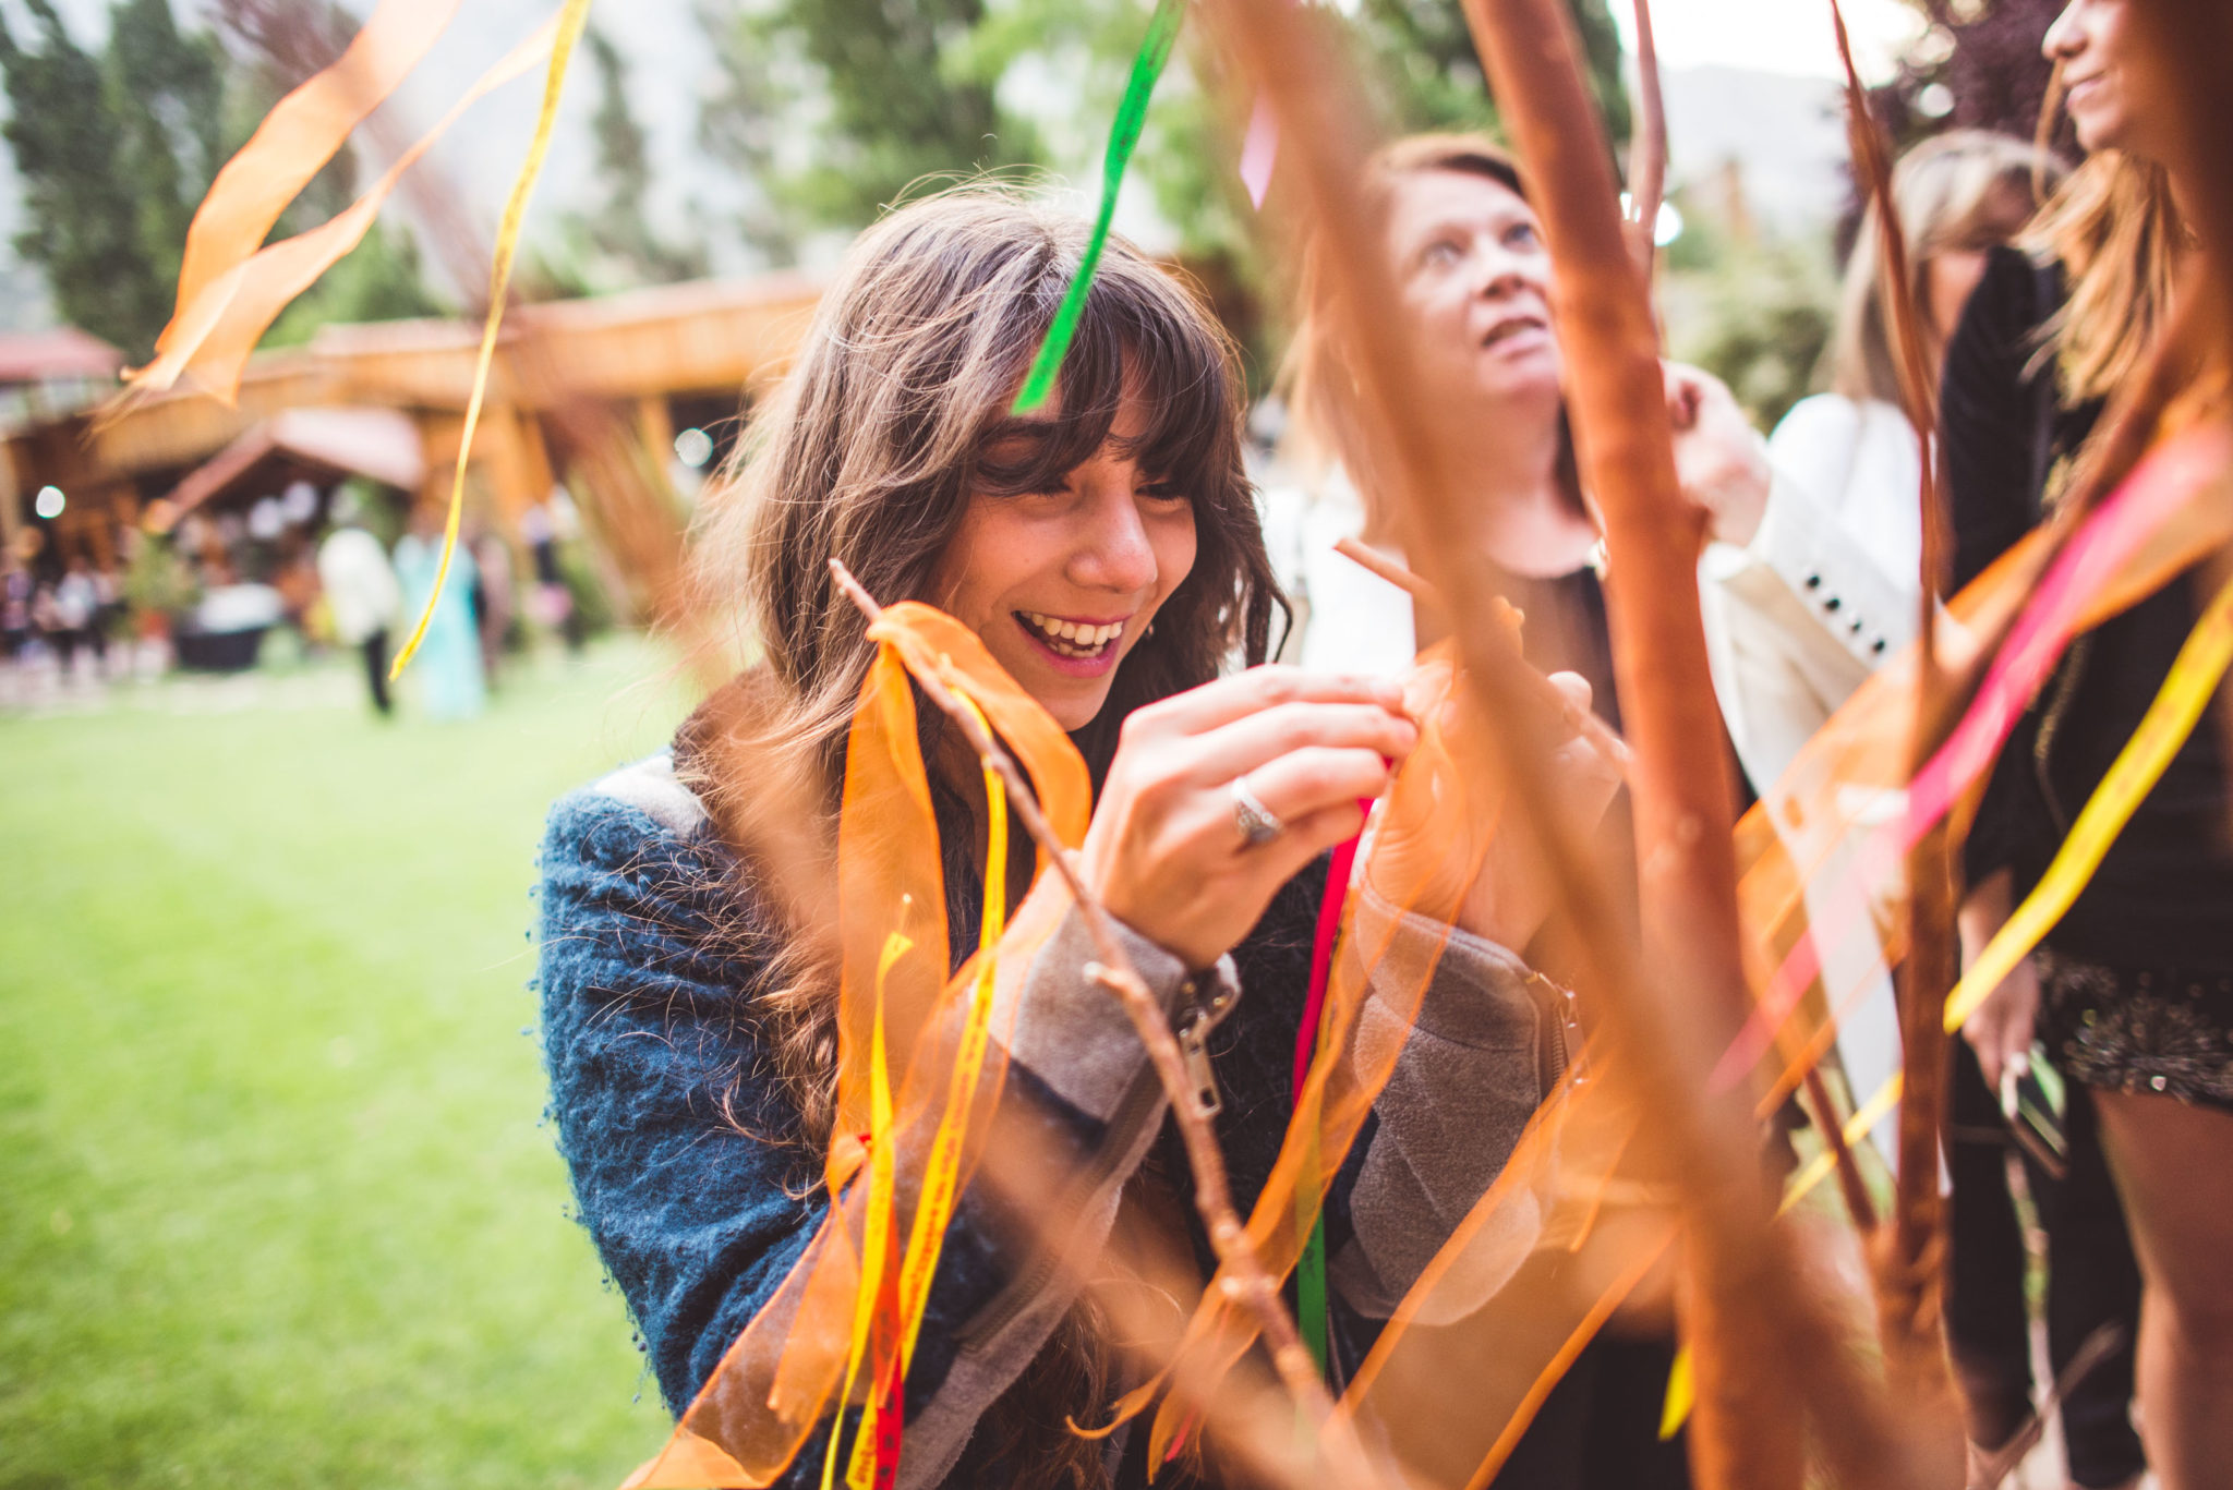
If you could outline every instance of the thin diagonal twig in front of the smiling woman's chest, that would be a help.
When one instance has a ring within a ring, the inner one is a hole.
[[[846,599],[853,601],[864,617],[869,617],[871,625],[884,614],[884,608],[875,603],[875,596],[871,596],[837,558],[831,558],[831,576],[837,581],[837,588],[846,594]],[[1123,1003],[1123,1012],[1139,1032],[1141,1045],[1148,1048],[1148,1061],[1154,1066],[1154,1074],[1163,1083],[1163,1095],[1170,1097],[1170,1117],[1179,1124],[1179,1137],[1186,1142],[1186,1159],[1195,1171],[1195,1209],[1201,1213],[1201,1222],[1210,1233],[1210,1249],[1228,1269],[1226,1291],[1235,1305],[1255,1318],[1257,1329],[1264,1334],[1264,1345],[1271,1349],[1273,1367],[1280,1372],[1280,1381],[1286,1383],[1286,1389],[1295,1396],[1302,1410],[1311,1414],[1315,1425],[1322,1430],[1329,1427],[1333,1423],[1333,1396],[1326,1392],[1326,1383],[1320,1378],[1317,1365],[1302,1345],[1302,1334],[1295,1329],[1295,1320],[1286,1311],[1286,1300],[1280,1298],[1280,1284],[1255,1255],[1255,1247],[1248,1244],[1248,1231],[1242,1226],[1242,1220],[1233,1209],[1233,1186],[1226,1179],[1224,1150],[1217,1148],[1217,1135],[1210,1128],[1208,1112],[1201,1108],[1201,1095],[1197,1092],[1192,1077],[1186,1074],[1186,1057],[1179,1052],[1179,1037],[1172,1034],[1163,1005],[1157,1001],[1154,992],[1150,992],[1148,981],[1139,976],[1132,958],[1125,956],[1123,943],[1116,940],[1114,916],[1110,916],[1108,907],[1101,905],[1101,898],[1085,887],[1085,880],[1072,862],[1070,849],[1063,847],[1063,840],[1054,835],[1047,818],[1038,811],[1038,797],[1034,795],[1032,784],[1025,780],[1014,757],[1000,748],[1000,742],[994,739],[978,713],[962,704],[953,690],[936,677],[916,675],[916,684],[940,713],[960,726],[969,748],[976,751],[985,768],[996,773],[1007,786],[1009,806],[1016,811],[1016,820],[1023,822],[1023,831],[1032,835],[1032,842],[1038,844],[1038,851],[1070,889],[1070,898],[1085,918],[1085,932],[1094,943],[1096,963],[1090,963],[1085,972],[1090,978],[1116,994],[1119,1003]],[[1342,1465],[1351,1472],[1344,1477],[1353,1477],[1353,1483],[1369,1483],[1371,1474],[1364,1470],[1362,1450],[1353,1450],[1346,1439],[1346,1432],[1326,1432],[1326,1448],[1338,1459],[1349,1459],[1353,1452],[1353,1463]]]

